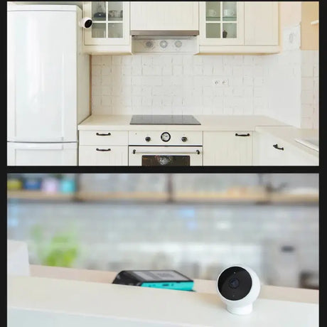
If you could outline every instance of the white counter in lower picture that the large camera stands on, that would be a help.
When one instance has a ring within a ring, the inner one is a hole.
[[[298,292],[297,301],[261,294],[250,315],[237,316],[227,312],[213,291],[213,281],[208,292],[186,292],[114,285],[110,282],[115,273],[108,272],[99,274],[106,276],[102,282],[72,280],[73,274],[77,279],[88,274],[73,271],[31,267],[32,277],[8,277],[8,326],[318,326],[318,304],[303,296],[318,299],[314,290],[280,288],[281,294]],[[96,275],[92,273],[93,278]],[[263,286],[262,293],[266,291]]]

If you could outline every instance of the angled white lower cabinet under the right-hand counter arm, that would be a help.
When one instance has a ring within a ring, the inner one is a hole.
[[[254,166],[318,166],[318,158],[276,136],[254,133]]]

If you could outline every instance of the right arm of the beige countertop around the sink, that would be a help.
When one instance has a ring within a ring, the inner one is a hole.
[[[295,139],[319,139],[318,129],[299,129],[292,126],[257,126],[255,132],[270,134],[292,146],[295,146],[297,149],[305,151],[307,154],[311,154],[316,158],[319,157],[318,151],[310,149],[308,146],[304,146],[304,144],[295,141]]]

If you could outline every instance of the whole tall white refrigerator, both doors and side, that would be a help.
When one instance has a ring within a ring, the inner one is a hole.
[[[72,5],[7,9],[7,164],[77,165],[77,124],[90,115],[90,57]]]

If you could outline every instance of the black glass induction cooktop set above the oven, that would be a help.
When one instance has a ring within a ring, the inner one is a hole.
[[[191,114],[134,114],[131,125],[200,125]]]

